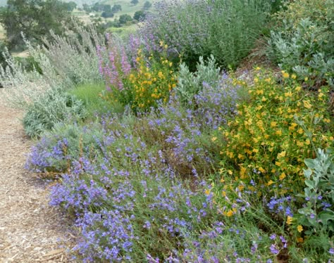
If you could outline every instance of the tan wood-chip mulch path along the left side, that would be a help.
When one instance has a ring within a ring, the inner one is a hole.
[[[32,141],[20,117],[0,101],[0,262],[70,262],[73,222],[49,206],[48,183],[25,170]]]

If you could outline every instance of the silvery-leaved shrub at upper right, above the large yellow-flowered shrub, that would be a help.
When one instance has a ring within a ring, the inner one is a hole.
[[[311,84],[325,79],[333,86],[334,52],[324,49],[328,43],[327,30],[309,18],[301,20],[293,30],[285,23],[282,32],[271,32],[271,56],[280,68],[295,72],[299,79],[310,79]]]

